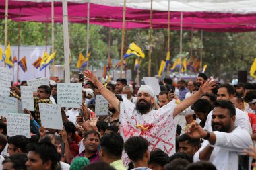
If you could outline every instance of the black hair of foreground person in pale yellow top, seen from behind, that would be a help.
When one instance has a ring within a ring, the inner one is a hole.
[[[112,132],[100,138],[100,146],[103,151],[106,152],[108,157],[121,158],[123,151],[123,138],[120,134]]]

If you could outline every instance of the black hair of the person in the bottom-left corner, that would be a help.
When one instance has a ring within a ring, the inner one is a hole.
[[[25,153],[16,153],[15,155],[11,155],[3,160],[2,165],[5,163],[12,163],[12,169],[15,170],[26,170],[27,167],[25,165],[26,161],[28,161],[28,157]]]

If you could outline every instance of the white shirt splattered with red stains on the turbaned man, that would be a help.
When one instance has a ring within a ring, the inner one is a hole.
[[[150,142],[150,150],[160,148],[168,155],[173,155],[176,134],[176,122],[173,119],[175,100],[158,110],[150,110],[147,114],[141,114],[135,109],[135,104],[124,96],[122,98],[119,121],[121,122],[120,134],[123,139],[126,141],[131,136],[142,136]],[[148,129],[143,130],[143,128]],[[126,154],[122,156],[122,159],[125,165],[129,163]]]

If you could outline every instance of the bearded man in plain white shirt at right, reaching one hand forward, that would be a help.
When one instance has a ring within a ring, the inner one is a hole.
[[[192,124],[187,130],[191,138],[205,139],[194,161],[210,161],[217,170],[238,170],[238,154],[253,145],[251,136],[240,126],[234,126],[236,109],[230,101],[216,101],[212,112],[212,130]]]

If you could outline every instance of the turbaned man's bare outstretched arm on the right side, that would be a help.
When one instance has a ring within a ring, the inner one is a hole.
[[[187,99],[184,99],[177,105],[173,112],[173,118],[177,116],[180,112],[188,108],[190,105],[195,103],[197,99],[200,99],[200,97],[205,94],[207,91],[210,91],[211,89],[214,89],[215,87],[215,81],[211,81],[212,79],[209,79],[207,82],[205,82],[203,85],[201,85],[199,91],[195,92],[193,95],[188,97]]]

